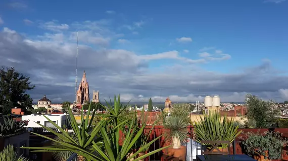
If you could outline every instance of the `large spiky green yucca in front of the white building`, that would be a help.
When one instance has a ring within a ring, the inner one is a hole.
[[[80,125],[78,125],[71,109],[68,108],[69,116],[70,116],[69,123],[70,123],[71,128],[72,128],[75,136],[77,137],[77,139],[74,139],[73,137],[71,137],[71,135],[69,135],[68,132],[66,132],[64,129],[62,129],[60,126],[58,126],[52,120],[50,120],[45,115],[43,115],[51,124],[53,124],[56,128],[58,128],[58,130],[62,134],[54,131],[53,129],[51,129],[49,127],[46,127],[46,126],[41,125],[39,123],[37,123],[37,124],[40,125],[41,127],[43,127],[44,129],[46,129],[47,131],[52,132],[61,140],[56,140],[54,138],[50,138],[50,137],[47,137],[47,136],[44,136],[41,134],[31,132],[32,134],[35,134],[35,135],[38,135],[40,137],[49,139],[49,140],[57,143],[57,145],[48,146],[48,147],[22,147],[22,148],[34,149],[35,152],[72,151],[72,152],[77,153],[78,160],[84,160],[84,159],[86,159],[86,160],[102,160],[102,158],[100,158],[98,155],[93,153],[93,151],[94,151],[94,149],[99,150],[102,148],[103,143],[99,142],[98,138],[96,138],[96,137],[97,137],[97,135],[99,135],[101,128],[103,127],[103,125],[106,122],[104,120],[101,120],[92,129],[91,124],[92,124],[92,121],[93,121],[93,118],[95,116],[95,112],[97,111],[97,109],[93,110],[91,119],[89,120],[89,115],[90,115],[91,110],[92,109],[91,109],[91,104],[90,104],[88,111],[87,111],[86,118],[84,118],[83,109],[81,110],[81,123],[80,123]]]

